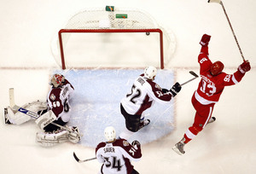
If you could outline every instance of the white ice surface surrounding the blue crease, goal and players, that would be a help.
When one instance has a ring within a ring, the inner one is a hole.
[[[207,3],[207,0],[3,1],[0,7],[2,111],[3,107],[9,105],[10,87],[15,88],[15,102],[18,105],[45,100],[49,91],[49,77],[59,68],[50,50],[55,33],[80,9],[105,5],[143,9],[172,29],[177,48],[166,69],[172,69],[180,83],[191,78],[189,70],[199,73],[197,55],[201,46],[198,43],[204,33],[212,35],[210,58],[212,61],[223,61],[226,73],[234,73],[242,62],[223,9],[217,3]],[[186,154],[179,156],[172,151],[172,146],[193,123],[195,110],[190,100],[199,79],[184,85],[174,100],[175,129],[171,134],[143,145],[143,158],[133,163],[140,173],[256,172],[256,117],[253,110],[256,104],[256,2],[224,0],[224,7],[252,70],[240,84],[226,87],[212,113],[217,121],[207,125],[186,145]],[[80,159],[89,159],[95,156],[94,148],[68,142],[42,148],[35,142],[37,131],[38,126],[33,122],[19,126],[4,125],[2,119],[1,173],[93,174],[99,171],[101,165],[96,160],[79,164],[72,155],[76,152]]]

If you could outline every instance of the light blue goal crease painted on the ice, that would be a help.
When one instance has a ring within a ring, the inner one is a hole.
[[[112,125],[117,136],[125,129],[125,119],[119,111],[121,99],[131,90],[131,85],[143,70],[137,69],[97,69],[97,70],[55,70],[63,74],[73,84],[74,93],[70,100],[72,118],[68,125],[79,127],[84,134],[79,142],[86,147],[95,148],[99,142],[106,141],[105,127]],[[170,89],[174,84],[171,70],[159,70],[154,80],[162,88]],[[138,140],[142,144],[153,142],[171,133],[174,129],[174,102],[160,104],[145,111],[151,123],[137,131],[129,142]]]

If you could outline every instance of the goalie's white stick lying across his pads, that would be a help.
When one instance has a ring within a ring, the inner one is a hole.
[[[38,119],[41,115],[39,115],[38,113],[33,113],[32,111],[29,111],[27,110],[26,108],[23,108],[23,107],[19,107],[15,104],[15,89],[14,88],[10,88],[9,89],[9,105],[10,107],[17,111],[17,112],[20,112],[20,113],[24,113],[34,119]],[[71,129],[68,129],[67,127],[65,126],[62,126],[62,125],[59,125],[59,124],[56,124],[54,122],[51,122],[50,124],[52,125],[56,125],[60,128],[62,128],[63,130],[66,130],[66,131],[72,131]],[[77,131],[73,131],[74,133],[78,134],[79,136],[83,136],[82,134],[79,134]]]

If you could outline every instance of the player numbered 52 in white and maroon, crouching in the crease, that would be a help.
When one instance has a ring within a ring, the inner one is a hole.
[[[170,102],[181,90],[179,83],[174,84],[171,90],[161,89],[159,84],[154,83],[156,74],[155,67],[146,67],[132,84],[131,93],[121,100],[120,110],[125,117],[125,129],[120,133],[120,138],[128,140],[134,132],[150,123],[149,119],[144,119],[143,112],[152,107],[154,102]]]

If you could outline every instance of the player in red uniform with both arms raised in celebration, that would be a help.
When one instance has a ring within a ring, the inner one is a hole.
[[[208,123],[215,121],[212,117],[214,105],[218,102],[224,87],[237,84],[251,67],[249,61],[244,61],[233,74],[223,72],[224,64],[221,61],[212,61],[208,57],[208,43],[211,36],[204,34],[201,38],[201,53],[198,56],[201,81],[192,96],[192,105],[195,107],[194,124],[189,127],[180,142],[172,148],[177,154],[184,154],[184,145],[192,140]]]

